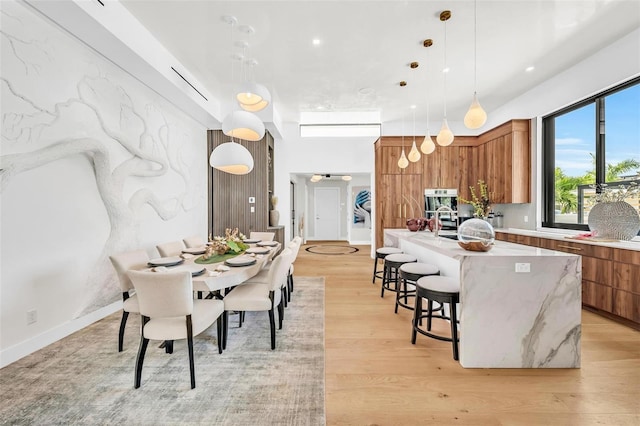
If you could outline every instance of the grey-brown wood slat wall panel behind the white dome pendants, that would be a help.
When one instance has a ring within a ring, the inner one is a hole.
[[[208,152],[228,142],[221,130],[209,130]],[[246,175],[232,175],[209,167],[209,233],[224,235],[225,228],[238,227],[249,235],[251,231],[266,231],[269,226],[269,161],[268,147],[273,137],[268,132],[257,142],[236,139],[253,156],[253,170]],[[273,161],[273,159],[272,159]],[[255,197],[255,212],[251,213],[249,197]]]

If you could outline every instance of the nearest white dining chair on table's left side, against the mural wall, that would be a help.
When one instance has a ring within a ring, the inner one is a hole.
[[[122,290],[122,319],[118,333],[118,352],[122,352],[124,341],[124,328],[127,324],[129,313],[140,313],[138,297],[135,294],[133,284],[127,275],[130,269],[143,269],[147,267],[149,256],[144,250],[134,250],[109,256],[113,268],[116,270],[120,289]]]

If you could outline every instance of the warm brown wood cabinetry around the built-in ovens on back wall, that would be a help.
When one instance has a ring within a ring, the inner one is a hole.
[[[409,153],[413,137],[405,137],[404,143],[399,136],[379,138],[375,143],[377,247],[383,245],[385,228],[404,227],[416,210],[406,206],[402,195],[422,205],[425,188],[457,188],[460,198],[470,200],[469,187],[477,188],[482,179],[493,203],[531,202],[529,126],[530,120],[511,120],[479,136],[456,136],[452,145],[436,145],[433,153],[422,154],[406,169],[398,167],[398,159],[403,146]],[[423,138],[416,136],[416,143]]]

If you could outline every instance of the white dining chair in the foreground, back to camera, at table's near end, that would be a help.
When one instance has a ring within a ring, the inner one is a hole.
[[[189,271],[129,271],[128,275],[138,294],[142,316],[134,387],[140,387],[149,340],[164,340],[173,347],[174,340],[187,339],[191,389],[195,388],[193,337],[217,321],[218,352],[222,353],[224,303],[216,299],[194,300]]]

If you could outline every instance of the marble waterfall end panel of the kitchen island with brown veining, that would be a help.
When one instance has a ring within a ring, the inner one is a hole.
[[[527,258],[528,280],[512,272],[518,259],[496,260],[461,260],[460,363],[470,368],[579,368],[581,258]],[[509,284],[491,290],[490,281]],[[495,291],[504,303],[495,305]]]

